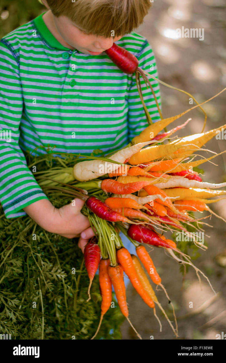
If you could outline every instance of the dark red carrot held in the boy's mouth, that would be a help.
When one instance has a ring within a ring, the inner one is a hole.
[[[121,69],[124,73],[132,74],[136,72],[138,67],[138,59],[128,50],[113,43],[112,47],[105,50],[108,57]]]

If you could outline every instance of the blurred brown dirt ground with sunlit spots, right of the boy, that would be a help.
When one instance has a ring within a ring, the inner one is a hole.
[[[204,40],[198,38],[174,39],[177,28],[203,28]],[[188,91],[202,102],[226,87],[226,3],[223,0],[154,0],[149,15],[137,32],[145,36],[156,56],[159,78],[178,88]],[[161,87],[163,116],[169,117],[191,107],[189,96]],[[224,125],[226,122],[225,95],[223,93],[204,106],[207,113],[206,130]],[[204,114],[196,109],[189,114],[192,121],[186,131],[178,136],[202,131]],[[174,123],[185,122],[186,115]],[[226,136],[225,136],[226,138]],[[225,140],[211,140],[207,144],[217,153],[224,151]],[[210,153],[206,154],[211,156]],[[215,166],[204,164],[204,181],[222,183],[226,180],[226,156],[218,156]],[[226,219],[226,201],[212,204],[215,213]],[[194,269],[189,268],[184,281],[180,266],[163,249],[151,249],[151,257],[161,274],[162,282],[176,308],[179,338],[216,339],[216,334],[226,333],[226,224],[215,216],[206,220],[213,228],[205,226],[205,241],[208,250],[200,250],[201,257],[193,263],[209,278],[214,293],[204,277],[202,285]],[[210,236],[209,238],[207,236]],[[172,310],[163,291],[157,297],[170,314]],[[163,324],[162,332],[151,309],[141,300],[131,284],[127,287],[130,319],[143,339],[176,339],[169,324],[157,308]],[[205,304],[204,304],[205,302]],[[204,304],[204,306],[202,306]],[[192,306],[193,307],[189,307]],[[197,314],[198,309],[201,310]],[[188,317],[185,314],[189,314]],[[225,335],[226,337],[226,335]],[[125,321],[122,325],[123,339],[137,339]]]

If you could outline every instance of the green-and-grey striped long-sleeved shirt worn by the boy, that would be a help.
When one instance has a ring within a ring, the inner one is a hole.
[[[42,146],[36,155],[46,154],[48,146],[86,155],[94,149],[116,151],[147,126],[135,75],[118,69],[106,53],[65,48],[42,15],[0,40],[0,201],[7,218],[26,215],[22,208],[48,199],[27,167],[26,150]],[[157,77],[144,37],[132,32],[116,44]],[[159,84],[151,83],[160,103]],[[153,95],[141,85],[156,121]]]

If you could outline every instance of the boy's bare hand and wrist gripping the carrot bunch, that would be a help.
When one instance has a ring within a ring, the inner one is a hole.
[[[94,236],[94,233],[89,219],[81,213],[84,201],[78,198],[75,198],[74,201],[74,205],[70,203],[57,209],[49,200],[41,199],[25,207],[24,211],[48,232],[73,238],[79,237],[80,233],[84,231],[85,236],[79,240],[79,247],[84,250],[86,243],[90,237]]]

